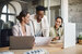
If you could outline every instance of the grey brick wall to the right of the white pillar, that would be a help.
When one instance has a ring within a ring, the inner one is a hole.
[[[75,23],[77,37],[82,32],[82,0],[69,0],[69,22]]]

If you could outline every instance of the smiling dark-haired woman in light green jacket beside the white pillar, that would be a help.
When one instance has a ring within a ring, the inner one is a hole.
[[[61,40],[63,36],[63,29],[62,29],[62,18],[58,16],[55,19],[55,26],[50,28],[49,36],[52,37],[52,41],[55,40]]]

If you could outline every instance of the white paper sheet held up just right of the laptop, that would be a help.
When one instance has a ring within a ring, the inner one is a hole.
[[[47,45],[51,39],[51,37],[35,37],[35,45]]]

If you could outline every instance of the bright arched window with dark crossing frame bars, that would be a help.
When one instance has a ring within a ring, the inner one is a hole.
[[[2,9],[1,19],[7,23],[9,21],[15,23],[15,9],[12,4],[5,4]]]

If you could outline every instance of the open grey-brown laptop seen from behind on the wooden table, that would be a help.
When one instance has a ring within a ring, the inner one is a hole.
[[[10,37],[10,50],[26,50],[33,49],[35,38],[33,36],[26,37]]]

